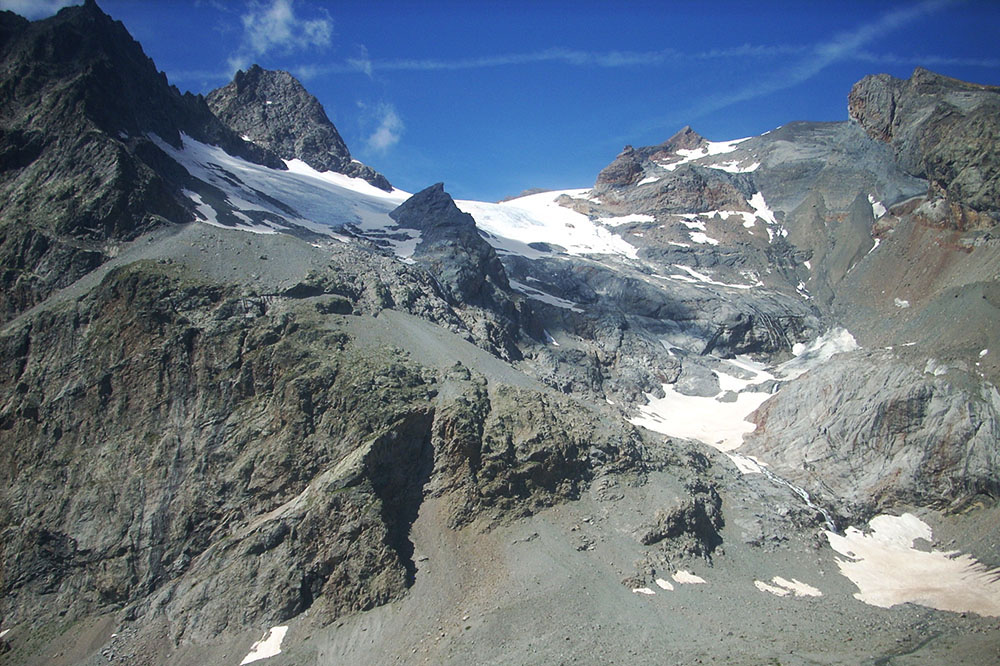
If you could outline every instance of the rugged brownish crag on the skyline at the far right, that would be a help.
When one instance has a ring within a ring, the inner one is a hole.
[[[931,193],[974,210],[1000,201],[1000,88],[917,68],[908,80],[868,76],[851,89],[851,118],[887,142]]]

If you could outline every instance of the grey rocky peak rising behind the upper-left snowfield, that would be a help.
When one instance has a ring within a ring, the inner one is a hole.
[[[351,158],[323,106],[288,72],[253,65],[206,97],[224,123],[283,159],[300,159],[317,171],[363,178],[391,191],[385,176]]]

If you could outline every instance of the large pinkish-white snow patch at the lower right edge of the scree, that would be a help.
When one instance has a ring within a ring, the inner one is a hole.
[[[880,608],[915,603],[938,610],[1000,617],[1000,569],[988,569],[957,551],[919,550],[931,528],[910,513],[873,518],[866,534],[849,527],[844,536],[827,532],[840,573],[858,586],[854,597]]]

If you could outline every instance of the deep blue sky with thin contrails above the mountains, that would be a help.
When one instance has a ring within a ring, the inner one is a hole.
[[[299,77],[355,157],[458,198],[588,187],[625,144],[845,120],[865,74],[1000,85],[1000,2],[98,0],[181,90]],[[0,0],[30,18],[65,0]]]

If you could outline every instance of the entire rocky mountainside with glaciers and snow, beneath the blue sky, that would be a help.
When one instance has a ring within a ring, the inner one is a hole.
[[[946,590],[969,617],[886,610],[830,546],[915,511],[919,557],[1000,565],[995,90],[866,79],[851,121],[684,128],[488,204],[351,171],[284,73],[180,95],[93,2],[0,40],[0,663],[235,663],[277,629],[275,664],[637,632],[990,663],[988,571]]]

